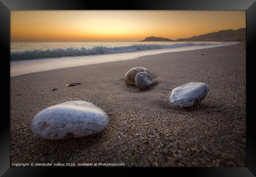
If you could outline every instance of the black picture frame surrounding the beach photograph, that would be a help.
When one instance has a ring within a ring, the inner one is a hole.
[[[83,172],[86,176],[96,175],[99,171],[111,172],[116,168],[32,168],[32,167],[10,167],[10,11],[11,10],[246,10],[246,83],[249,87],[249,63],[255,59],[256,49],[256,2],[255,0],[129,0],[126,2],[109,2],[97,0],[0,0],[0,48],[2,58],[1,98],[2,116],[0,129],[0,175],[3,176],[52,176],[53,172],[60,175],[74,175],[74,172]],[[9,75],[9,76],[8,76]],[[169,174],[195,175],[195,176],[254,176],[256,175],[256,134],[254,133],[254,116],[248,114],[247,90],[247,118],[246,118],[246,167],[241,168],[119,168],[125,170],[121,175],[130,175],[131,172],[139,171],[145,173],[152,170],[163,171]],[[252,105],[251,105],[252,106]],[[154,173],[154,172],[153,172]],[[158,174],[158,172],[156,173]]]

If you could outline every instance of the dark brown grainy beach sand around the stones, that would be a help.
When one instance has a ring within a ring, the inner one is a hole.
[[[245,166],[245,61],[241,43],[11,77],[11,163]],[[123,76],[136,66],[148,68],[157,84],[145,91],[126,86]],[[175,107],[171,90],[189,82],[208,84],[208,95],[195,107]],[[72,100],[104,110],[106,129],[65,140],[32,133],[37,112]]]

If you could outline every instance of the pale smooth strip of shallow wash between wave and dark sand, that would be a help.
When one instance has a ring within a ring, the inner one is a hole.
[[[59,57],[46,58],[24,61],[11,61],[10,74],[13,76],[20,76],[22,74],[30,74],[35,72],[49,71],[60,68],[69,68],[75,66],[93,65],[99,63],[108,63],[114,61],[124,61],[131,59],[138,59],[139,57],[157,55],[161,53],[184,52],[191,50],[201,50],[206,48],[215,48],[222,46],[236,45],[241,42],[225,42],[221,44],[206,45],[206,46],[189,46],[178,48],[166,48],[156,50],[142,50],[136,52],[121,52],[109,53],[103,55],[85,55],[76,57]]]

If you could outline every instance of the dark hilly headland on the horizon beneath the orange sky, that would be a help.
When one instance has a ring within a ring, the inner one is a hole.
[[[146,37],[145,40],[139,42],[156,42],[156,41],[245,41],[246,28],[238,30],[221,30],[204,35],[193,36],[185,39],[171,40],[162,37]]]

